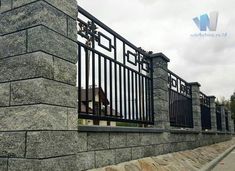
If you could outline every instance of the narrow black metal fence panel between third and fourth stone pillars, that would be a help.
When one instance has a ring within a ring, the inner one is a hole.
[[[200,103],[202,129],[211,129],[210,98],[200,92]]]

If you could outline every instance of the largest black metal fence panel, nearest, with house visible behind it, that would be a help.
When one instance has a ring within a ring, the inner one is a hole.
[[[78,7],[79,118],[153,124],[150,52]]]

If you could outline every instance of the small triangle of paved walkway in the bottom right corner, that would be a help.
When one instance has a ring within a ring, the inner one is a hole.
[[[235,171],[235,150],[221,160],[212,171]]]

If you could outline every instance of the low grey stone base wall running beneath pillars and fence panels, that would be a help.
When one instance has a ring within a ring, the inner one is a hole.
[[[224,133],[153,128],[0,132],[0,170],[85,170],[230,138]]]

